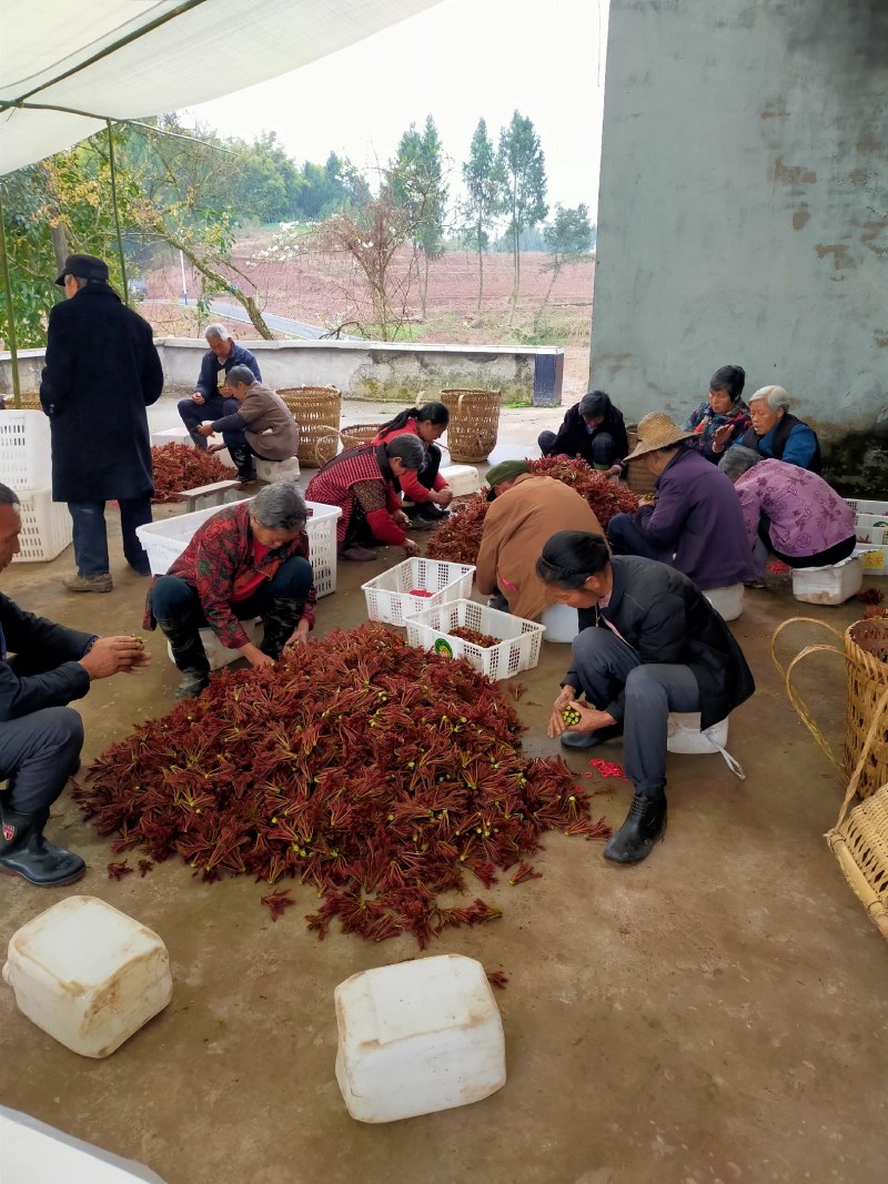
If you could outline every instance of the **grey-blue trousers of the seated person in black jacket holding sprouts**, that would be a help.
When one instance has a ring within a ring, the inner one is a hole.
[[[573,642],[568,681],[579,682],[590,703],[623,708],[626,774],[637,793],[658,797],[665,789],[670,712],[699,712],[700,686],[689,667],[650,663],[607,626],[584,629]]]

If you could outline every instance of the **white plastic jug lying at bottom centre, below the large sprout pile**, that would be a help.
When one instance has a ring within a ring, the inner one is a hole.
[[[380,966],[334,993],[336,1080],[360,1122],[465,1106],[506,1085],[500,1010],[474,958]]]

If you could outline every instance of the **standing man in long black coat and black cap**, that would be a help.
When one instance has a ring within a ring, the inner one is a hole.
[[[108,264],[69,255],[56,283],[67,297],[50,313],[40,401],[52,430],[52,496],[67,502],[77,574],[70,592],[110,592],[105,502],[121,508],[123,554],[150,574],[136,527],[152,520],[146,407],[163,390],[152,328],[108,282]]]

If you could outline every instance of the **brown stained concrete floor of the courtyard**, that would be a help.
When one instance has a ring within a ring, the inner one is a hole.
[[[155,422],[170,412],[162,405]],[[343,418],[382,414],[349,405]],[[523,455],[553,418],[504,412],[497,457]],[[111,596],[60,591],[70,551],[14,565],[4,591],[72,625],[133,631],[146,583],[127,573],[116,539],[115,553]],[[400,558],[393,548],[384,562]],[[360,584],[380,567],[340,567],[317,635],[365,619]],[[86,877],[58,892],[4,881],[0,942],[65,894],[95,894],[162,935],[174,997],[95,1062],[32,1027],[0,984],[0,1102],[141,1160],[168,1184],[882,1178],[888,951],[823,841],[839,786],[771,661],[773,629],[797,612],[839,630],[857,616],[854,605],[798,605],[786,587],[747,593],[734,629],[759,689],[732,716],[728,741],[745,781],[719,757],[670,757],[669,831],[644,864],[616,868],[600,843],[549,836],[535,861],[543,879],[482,893],[502,920],[445,931],[429,951],[509,976],[496,995],[508,1058],[498,1094],[382,1127],[354,1122],[333,1073],[333,989],[416,946],[333,932],[320,944],[302,920],[315,900],[308,889],[296,888],[300,907],[272,925],[262,884],[204,886],[172,860],[146,879],[109,881],[108,841],[64,797],[51,835],[84,855]],[[797,644],[812,636],[799,626]],[[88,759],[172,704],[176,671],[157,635],[148,645],[144,676],[97,683],[82,701]],[[534,754],[554,751],[543,725],[567,656],[543,644],[539,667],[520,676]],[[841,664],[810,661],[803,690],[838,735]],[[603,754],[619,760],[620,748]],[[586,768],[581,754],[568,764],[578,777]],[[590,784],[600,813],[619,824],[626,783]],[[33,1178],[44,1184],[39,1169]]]

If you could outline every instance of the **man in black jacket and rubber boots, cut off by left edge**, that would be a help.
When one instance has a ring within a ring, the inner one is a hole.
[[[19,500],[0,485],[0,571],[19,552]],[[12,651],[12,652],[7,652]],[[83,721],[66,704],[92,678],[148,664],[139,638],[96,637],[22,612],[0,593],[0,871],[40,887],[70,884],[79,855],[44,838],[50,806],[77,770]]]

